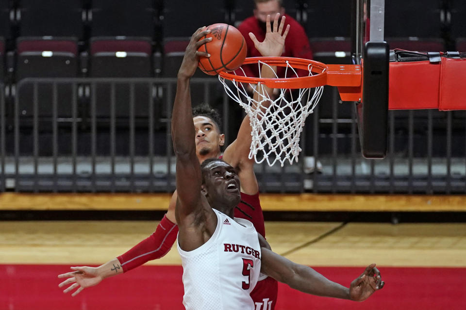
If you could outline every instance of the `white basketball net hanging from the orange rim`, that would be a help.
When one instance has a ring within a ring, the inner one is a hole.
[[[261,65],[269,66],[259,61],[259,72]],[[241,70],[246,76],[243,68],[237,70]],[[312,64],[309,64],[308,70],[309,76],[314,75],[311,72]],[[293,77],[298,77],[296,70],[286,62],[285,76],[288,72],[292,73]],[[252,128],[249,158],[254,157],[258,164],[266,160],[269,166],[274,165],[277,160],[282,167],[286,160],[290,164],[293,164],[293,161],[298,162],[302,128],[306,117],[316,108],[322,96],[323,86],[294,91],[277,88],[274,89],[275,92],[278,91],[277,94],[268,94],[262,90],[260,82],[241,83],[221,76],[218,76],[218,79],[230,98],[239,103],[249,116]],[[253,90],[252,94],[248,93],[248,87]],[[254,93],[258,95],[258,100],[253,99]]]

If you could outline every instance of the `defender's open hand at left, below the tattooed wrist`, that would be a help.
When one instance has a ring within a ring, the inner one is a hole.
[[[58,275],[58,278],[68,278],[58,285],[58,287],[64,287],[67,284],[73,283],[63,293],[68,293],[76,288],[76,291],[71,294],[71,296],[76,296],[86,287],[91,287],[97,285],[104,278],[100,275],[99,269],[97,267],[71,267],[72,272],[67,272],[61,275]]]

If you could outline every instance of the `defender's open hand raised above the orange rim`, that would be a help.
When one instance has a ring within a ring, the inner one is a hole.
[[[250,32],[249,36],[254,43],[254,47],[261,53],[262,56],[265,57],[278,57],[282,56],[283,47],[285,45],[285,39],[288,35],[288,31],[290,30],[290,25],[287,25],[285,31],[283,31],[283,27],[285,25],[285,16],[282,16],[282,20],[279,24],[279,17],[280,13],[275,15],[273,19],[273,29],[270,28],[270,15],[267,15],[266,18],[266,37],[263,42],[259,42],[254,35],[254,33]]]

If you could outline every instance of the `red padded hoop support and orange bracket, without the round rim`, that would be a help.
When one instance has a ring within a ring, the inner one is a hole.
[[[341,100],[361,101],[359,66],[327,66],[327,85],[338,87]],[[466,110],[466,59],[390,62],[389,68],[388,109]]]

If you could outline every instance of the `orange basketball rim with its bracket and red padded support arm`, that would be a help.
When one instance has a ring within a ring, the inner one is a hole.
[[[301,78],[251,78],[220,72],[223,78],[238,82],[262,82],[271,88],[306,88],[336,86],[342,101],[361,101],[362,65],[324,64],[299,58],[253,57],[269,65],[307,69],[313,66],[314,76]],[[363,64],[364,65],[364,64]],[[388,109],[466,110],[466,59],[444,58],[441,62],[390,62]]]

